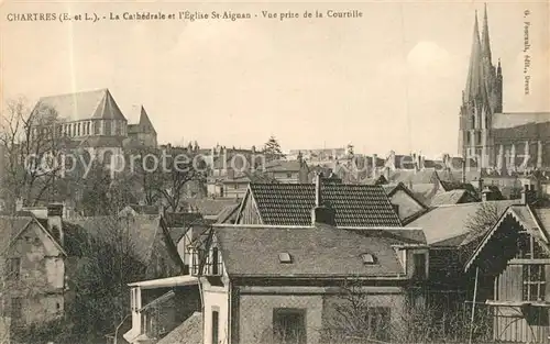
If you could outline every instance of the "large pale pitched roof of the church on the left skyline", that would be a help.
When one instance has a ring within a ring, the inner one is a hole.
[[[38,106],[46,106],[54,109],[58,118],[66,121],[92,119],[127,120],[107,88],[43,97],[38,100],[35,110],[38,109]]]

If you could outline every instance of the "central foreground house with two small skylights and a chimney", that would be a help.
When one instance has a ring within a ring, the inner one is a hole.
[[[337,228],[327,209],[311,224],[215,224],[196,243],[205,344],[341,342],[351,292],[365,302],[362,335],[388,341],[406,326],[427,278],[421,231]]]

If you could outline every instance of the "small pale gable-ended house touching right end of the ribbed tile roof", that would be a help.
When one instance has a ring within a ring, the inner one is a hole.
[[[403,182],[397,185],[383,185],[382,187],[403,223],[409,222],[411,219],[428,210],[428,207]]]

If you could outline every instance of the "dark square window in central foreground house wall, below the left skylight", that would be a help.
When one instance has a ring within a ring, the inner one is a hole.
[[[273,310],[273,336],[275,343],[305,344],[306,310],[278,308]]]

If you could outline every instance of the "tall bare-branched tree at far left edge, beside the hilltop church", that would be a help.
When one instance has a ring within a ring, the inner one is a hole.
[[[53,197],[62,153],[67,140],[62,137],[57,112],[38,103],[32,111],[23,98],[9,100],[0,115],[0,153],[2,154],[2,195],[8,209],[19,199],[28,206]]]

